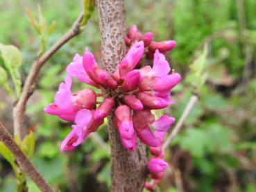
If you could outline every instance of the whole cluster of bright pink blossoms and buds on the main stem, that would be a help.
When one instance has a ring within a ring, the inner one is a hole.
[[[73,150],[103,124],[104,118],[114,109],[114,124],[121,143],[127,150],[136,149],[136,137],[149,146],[153,158],[148,162],[150,177],[162,178],[167,163],[162,160],[164,134],[175,119],[162,115],[155,120],[152,110],[164,109],[173,103],[171,89],[180,81],[180,75],[171,71],[165,53],[175,46],[174,41],[153,42],[152,33],[143,37],[132,26],[126,37],[129,49],[113,74],[101,69],[94,55],[85,50],[76,54],[67,66],[65,82],[60,83],[54,102],[44,111],[66,121],[74,122],[71,132],[62,141],[60,150]],[[139,69],[144,54],[153,53],[153,66]],[[99,89],[86,88],[71,92],[72,78]],[[97,101],[101,97],[101,101]],[[103,97],[103,100],[102,100]],[[153,131],[152,131],[153,130]],[[146,186],[146,185],[145,185]]]

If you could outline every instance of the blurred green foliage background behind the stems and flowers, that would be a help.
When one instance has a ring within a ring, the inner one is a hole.
[[[0,1],[0,43],[22,51],[22,80],[40,47],[25,11],[28,8],[37,17],[37,4],[48,25],[56,21],[46,49],[83,10],[78,0]],[[255,0],[125,1],[128,26],[136,24],[144,33],[152,31],[154,40],[177,41],[167,58],[181,73],[182,82],[173,89],[176,103],[166,112],[178,120],[191,94],[199,97],[167,150],[165,159],[173,171],[165,173],[157,191],[256,191],[255,8]],[[36,139],[32,162],[60,191],[110,190],[108,153],[92,139],[73,152],[60,152],[70,123],[43,112],[53,101],[74,54],[82,54],[88,46],[99,58],[99,40],[94,11],[83,33],[45,64],[28,103],[26,128],[34,131]],[[198,87],[198,83],[202,85]],[[73,89],[81,87],[83,83],[75,81]],[[12,131],[12,101],[1,88],[0,98],[0,120]],[[105,125],[98,133],[108,143]],[[0,161],[0,191],[15,191],[12,168],[1,156]],[[38,191],[29,179],[28,187]]]

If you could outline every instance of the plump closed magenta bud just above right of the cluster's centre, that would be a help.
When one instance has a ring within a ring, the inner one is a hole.
[[[126,74],[126,78],[123,80],[123,91],[133,91],[138,88],[139,83],[142,82],[139,70],[133,70]]]

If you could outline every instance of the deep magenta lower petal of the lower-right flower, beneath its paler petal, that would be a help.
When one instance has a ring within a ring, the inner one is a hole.
[[[136,129],[136,133],[139,139],[148,146],[158,147],[161,144],[148,127]]]

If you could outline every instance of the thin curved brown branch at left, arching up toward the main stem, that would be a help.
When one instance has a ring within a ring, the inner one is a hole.
[[[19,101],[15,105],[13,109],[13,121],[14,121],[14,133],[21,137],[22,134],[22,127],[24,124],[24,113],[26,110],[26,103],[28,98],[33,93],[32,85],[34,84],[40,69],[44,65],[44,63],[51,58],[51,56],[60,49],[64,44],[66,44],[71,38],[75,37],[80,33],[80,22],[83,19],[84,12],[81,12],[76,21],[74,22],[73,26],[69,29],[65,35],[63,35],[56,44],[53,44],[51,48],[42,55],[39,59],[33,62],[32,67],[28,73],[28,76],[25,80],[24,87],[22,90],[22,94],[19,97]]]

